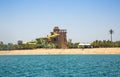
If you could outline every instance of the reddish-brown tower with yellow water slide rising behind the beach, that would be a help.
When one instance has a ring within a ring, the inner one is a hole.
[[[52,42],[57,44],[60,48],[67,48],[67,30],[59,29],[59,27],[55,26],[51,35],[45,37],[48,42]]]

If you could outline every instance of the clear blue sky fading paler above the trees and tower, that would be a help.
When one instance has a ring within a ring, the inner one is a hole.
[[[120,41],[120,0],[0,0],[0,41],[17,43],[67,29],[73,42]]]

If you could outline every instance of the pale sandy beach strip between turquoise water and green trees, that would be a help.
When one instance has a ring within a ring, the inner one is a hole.
[[[91,49],[34,49],[0,51],[0,55],[41,55],[41,54],[120,54],[120,48]]]

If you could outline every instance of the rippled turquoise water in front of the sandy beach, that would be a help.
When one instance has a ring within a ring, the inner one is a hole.
[[[0,77],[120,77],[120,55],[0,56]]]

